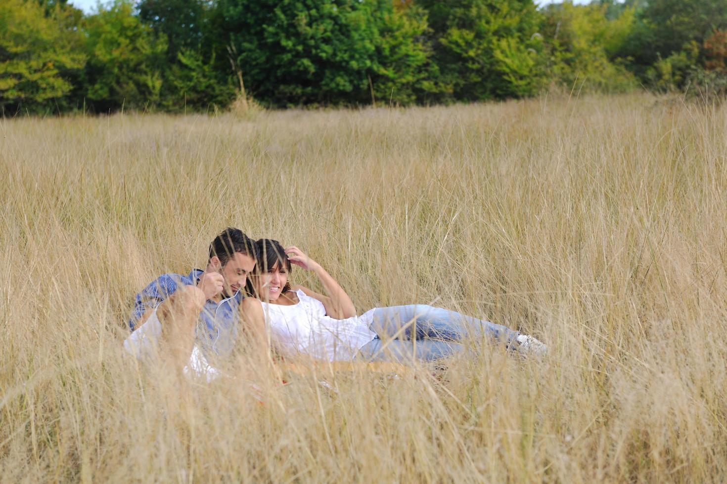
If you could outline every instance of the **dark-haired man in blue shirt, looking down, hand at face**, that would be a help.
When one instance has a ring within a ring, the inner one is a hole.
[[[206,367],[205,355],[229,356],[238,335],[241,288],[254,268],[255,255],[254,241],[240,229],[222,231],[209,245],[204,271],[163,274],[136,295],[129,319],[132,334],[124,348],[139,358],[158,350],[165,353],[165,362],[185,370],[188,364]]]

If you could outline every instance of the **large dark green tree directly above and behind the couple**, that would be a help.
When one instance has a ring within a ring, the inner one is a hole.
[[[362,102],[373,67],[366,1],[220,0],[246,87],[276,106]]]

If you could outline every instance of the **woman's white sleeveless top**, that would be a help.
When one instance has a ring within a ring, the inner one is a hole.
[[[306,355],[325,361],[350,361],[358,348],[376,337],[369,329],[373,309],[361,316],[334,319],[326,316],[321,301],[301,290],[295,293],[300,302],[294,305],[262,303],[273,345],[283,356]]]

